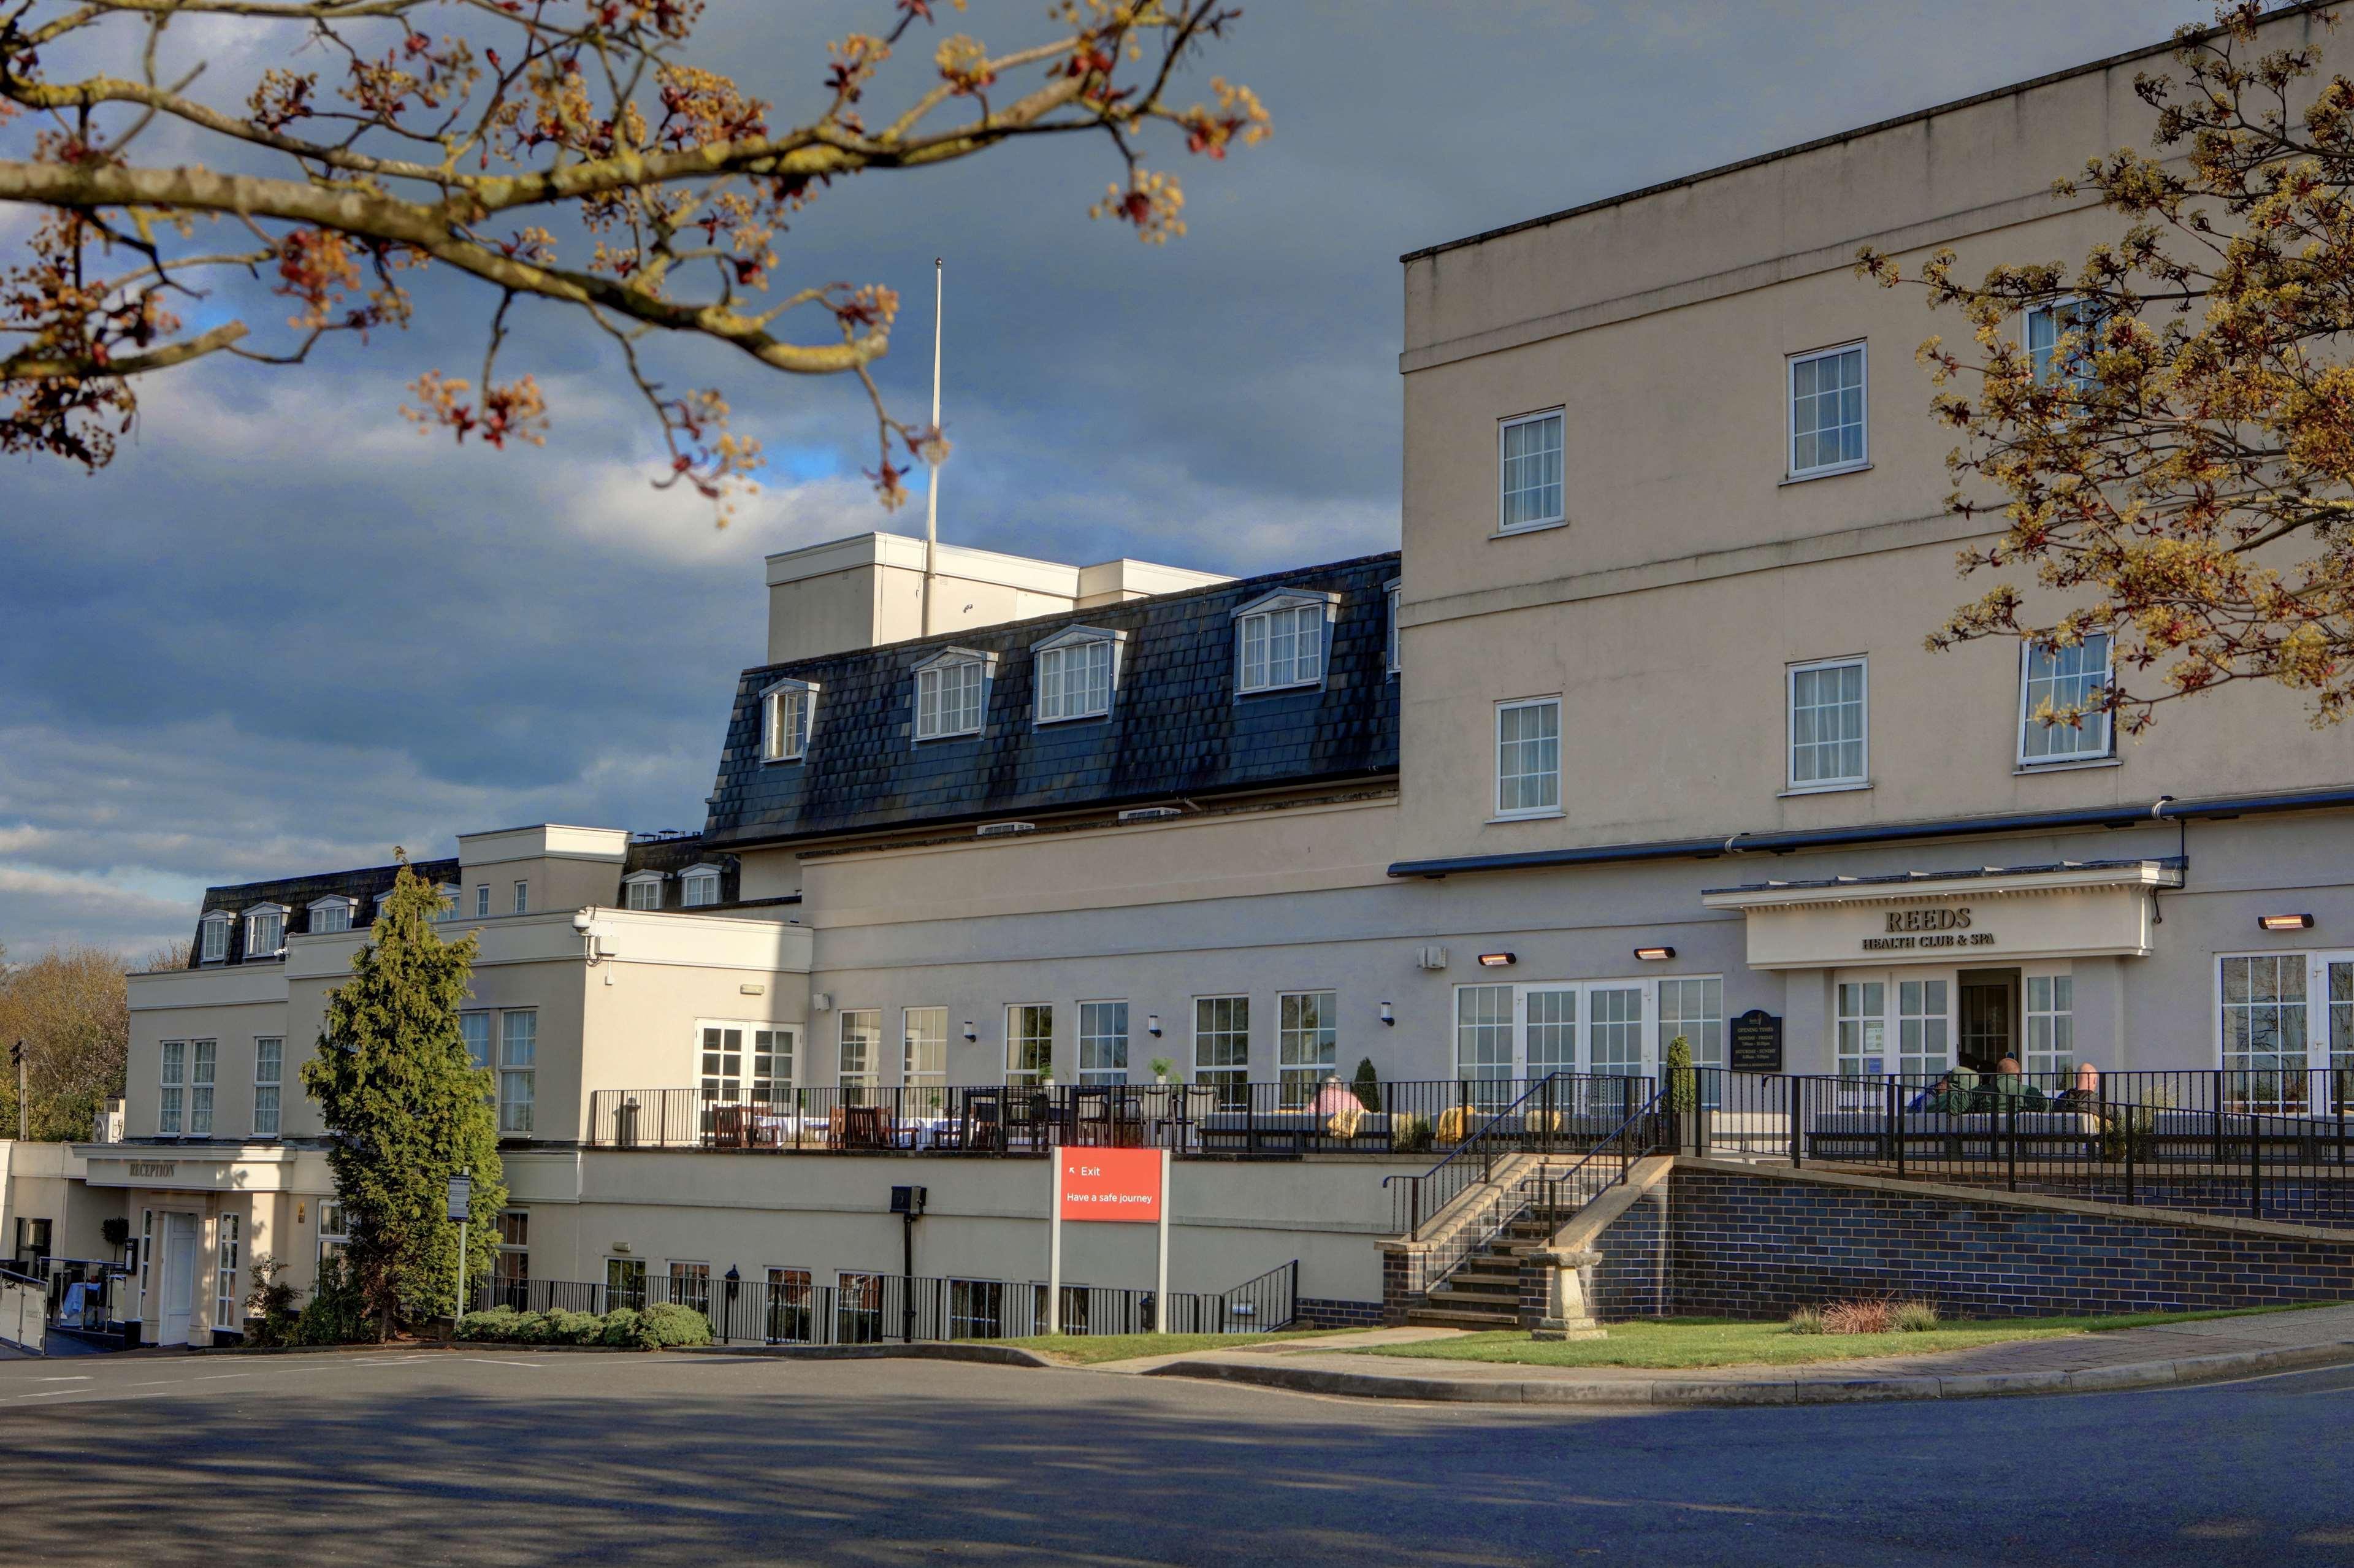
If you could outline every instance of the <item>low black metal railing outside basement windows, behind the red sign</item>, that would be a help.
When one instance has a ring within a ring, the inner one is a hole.
[[[673,1302],[701,1311],[718,1344],[911,1344],[925,1340],[1017,1340],[1045,1333],[1048,1285],[1038,1281],[935,1278],[845,1271],[812,1278],[727,1281],[704,1274],[647,1274],[614,1283],[492,1281],[476,1285],[473,1311],[645,1309]],[[1299,1316],[1299,1264],[1281,1264],[1233,1290],[1172,1290],[1168,1333],[1269,1333]],[[1153,1330],[1153,1293],[1064,1283],[1059,1328],[1069,1335]]]

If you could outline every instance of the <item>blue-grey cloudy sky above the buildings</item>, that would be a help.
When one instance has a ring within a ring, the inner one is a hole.
[[[989,40],[1033,0],[975,0]],[[883,0],[711,0],[709,59],[796,115],[822,40]],[[782,245],[798,280],[911,297],[883,384],[927,396],[949,259],[942,534],[1248,572],[1398,539],[1405,250],[2161,40],[2206,0],[1248,0],[1212,68],[1276,134],[1189,162],[1191,233],[1085,207],[1097,146],[852,181]],[[779,21],[779,16],[789,21]],[[235,47],[235,45],[233,45]],[[252,64],[252,61],[247,61]],[[219,80],[219,78],[212,78]],[[2088,148],[2093,151],[2093,148]],[[0,155],[9,155],[0,148]],[[2055,170],[2057,174],[2060,170]],[[26,214],[0,207],[0,261]],[[407,428],[400,386],[466,374],[487,301],[304,370],[228,360],[146,388],[85,476],[0,459],[0,942],[141,954],[207,883],[452,852],[518,822],[699,826],[760,556],[876,527],[855,388],[758,384],[711,351],[772,457],[727,530],[647,490],[650,431],[548,313],[511,370],[551,386],[537,452]]]

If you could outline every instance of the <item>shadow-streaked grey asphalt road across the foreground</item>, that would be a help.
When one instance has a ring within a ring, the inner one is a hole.
[[[14,1563],[2354,1561],[2354,1368],[1784,1410],[939,1361],[0,1363]]]

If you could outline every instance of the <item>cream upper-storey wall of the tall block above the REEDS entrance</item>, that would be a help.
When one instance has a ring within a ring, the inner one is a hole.
[[[1401,859],[2354,779],[2342,735],[2248,687],[2170,709],[2116,768],[2020,777],[2017,647],[1921,645],[1991,586],[1956,579],[1982,525],[1947,516],[1951,433],[1914,365],[1959,325],[1855,278],[1855,250],[2081,259],[2119,221],[2050,179],[2147,146],[2147,64],[1408,261]],[[1784,483],[1787,356],[1848,341],[1871,469]],[[1497,537],[1497,421],[1547,407],[1568,525]],[[1869,655],[1871,789],[1784,798],[1784,666],[1838,655]],[[1492,704],[1544,695],[1565,812],[1490,824]]]

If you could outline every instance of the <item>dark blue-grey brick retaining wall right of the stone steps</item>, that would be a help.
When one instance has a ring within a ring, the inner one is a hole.
[[[1638,1205],[1610,1231],[1629,1229],[1634,1257],[1650,1224]],[[1612,1248],[1605,1234],[1603,1255]],[[1928,1297],[1973,1318],[2354,1297],[2354,1236],[2265,1236],[1763,1170],[1678,1165],[1667,1253],[1669,1290],[1653,1311],[1733,1318],[1867,1295]],[[1629,1311],[1636,1293],[1601,1295],[1603,1316],[1648,1316]]]

